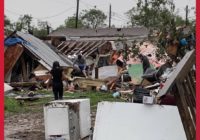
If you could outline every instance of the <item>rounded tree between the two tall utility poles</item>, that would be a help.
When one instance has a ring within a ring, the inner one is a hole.
[[[83,10],[81,13],[81,19],[83,24],[88,28],[96,29],[97,27],[104,26],[104,22],[107,16],[101,11],[95,8],[90,10]]]

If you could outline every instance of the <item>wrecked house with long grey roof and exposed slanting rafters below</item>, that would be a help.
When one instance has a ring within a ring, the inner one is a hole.
[[[124,49],[124,43],[127,40],[145,39],[148,37],[148,33],[149,31],[144,27],[101,29],[65,28],[50,33],[48,37],[51,38],[51,44],[66,57],[73,59],[74,55],[76,56],[82,53],[89,61],[89,65],[96,63],[95,65],[97,67],[101,67],[108,65],[107,61],[110,61],[110,55],[113,54],[113,50]]]

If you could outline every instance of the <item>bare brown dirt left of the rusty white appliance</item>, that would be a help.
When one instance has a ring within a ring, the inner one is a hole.
[[[43,112],[5,116],[4,139],[44,140]]]

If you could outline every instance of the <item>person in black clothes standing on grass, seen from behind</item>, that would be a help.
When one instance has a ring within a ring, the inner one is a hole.
[[[53,68],[50,71],[52,79],[52,88],[55,100],[63,99],[63,83],[62,80],[66,79],[63,69],[58,61],[53,62]]]

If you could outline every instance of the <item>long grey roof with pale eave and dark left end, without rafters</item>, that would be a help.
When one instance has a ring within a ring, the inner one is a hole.
[[[61,41],[66,40],[134,40],[147,38],[148,34],[149,30],[145,27],[100,29],[64,28],[53,31],[48,37],[51,38],[52,45],[57,46]]]

